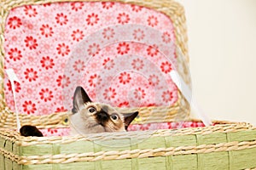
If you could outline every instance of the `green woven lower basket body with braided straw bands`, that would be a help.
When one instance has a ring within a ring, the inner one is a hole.
[[[1,155],[15,162],[13,166],[32,169],[47,169],[49,166],[58,169],[60,164],[65,168],[71,165],[79,168],[79,163],[85,167],[96,164],[111,166],[113,161],[129,167],[134,163],[133,159],[137,169],[154,169],[143,167],[143,163],[160,163],[160,160],[167,167],[172,167],[166,169],[191,165],[195,166],[192,169],[256,167],[253,161],[256,156],[256,128],[247,123],[51,138],[20,137],[15,131],[1,129],[0,144],[4,144],[0,149]],[[128,167],[124,169],[131,169]]]

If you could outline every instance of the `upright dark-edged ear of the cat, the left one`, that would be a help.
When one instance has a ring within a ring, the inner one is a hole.
[[[78,86],[73,94],[73,113],[77,113],[79,108],[84,105],[84,103],[91,102],[89,96],[84,91],[84,88]]]

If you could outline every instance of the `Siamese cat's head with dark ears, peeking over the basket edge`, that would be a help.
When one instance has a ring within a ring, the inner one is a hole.
[[[122,114],[111,105],[92,102],[84,88],[78,87],[73,96],[71,133],[122,132],[138,112]]]

